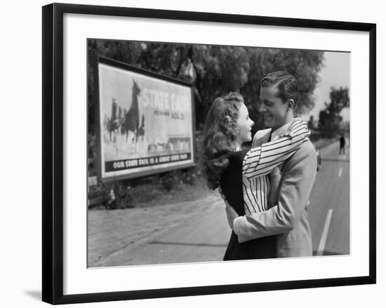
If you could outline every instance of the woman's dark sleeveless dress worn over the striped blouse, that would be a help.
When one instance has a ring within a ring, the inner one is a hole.
[[[248,149],[232,152],[229,166],[222,175],[220,186],[228,203],[237,214],[245,215],[243,199],[242,167]],[[276,257],[275,236],[265,236],[239,243],[237,235],[232,231],[224,260],[265,259]]]

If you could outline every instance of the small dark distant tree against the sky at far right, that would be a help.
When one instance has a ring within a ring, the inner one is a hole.
[[[340,130],[342,116],[340,112],[350,107],[349,89],[331,87],[330,102],[325,102],[325,109],[319,112],[319,129],[323,137],[331,138]]]

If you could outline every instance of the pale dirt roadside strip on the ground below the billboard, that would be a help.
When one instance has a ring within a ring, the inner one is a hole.
[[[151,241],[154,236],[205,215],[222,202],[217,192],[194,201],[148,208],[88,211],[88,267],[95,267],[128,246]]]

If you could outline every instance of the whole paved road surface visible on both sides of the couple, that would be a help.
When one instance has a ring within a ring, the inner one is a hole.
[[[347,254],[349,250],[350,160],[339,155],[338,142],[321,150],[321,168],[310,198],[309,213],[314,255]],[[219,199],[205,215],[126,246],[109,257],[107,265],[144,265],[222,260],[230,229]]]

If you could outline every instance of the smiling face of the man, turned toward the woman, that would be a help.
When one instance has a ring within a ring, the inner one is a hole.
[[[277,91],[277,86],[260,88],[259,112],[264,116],[264,126],[272,130],[284,126],[288,117],[288,104],[277,97]]]

